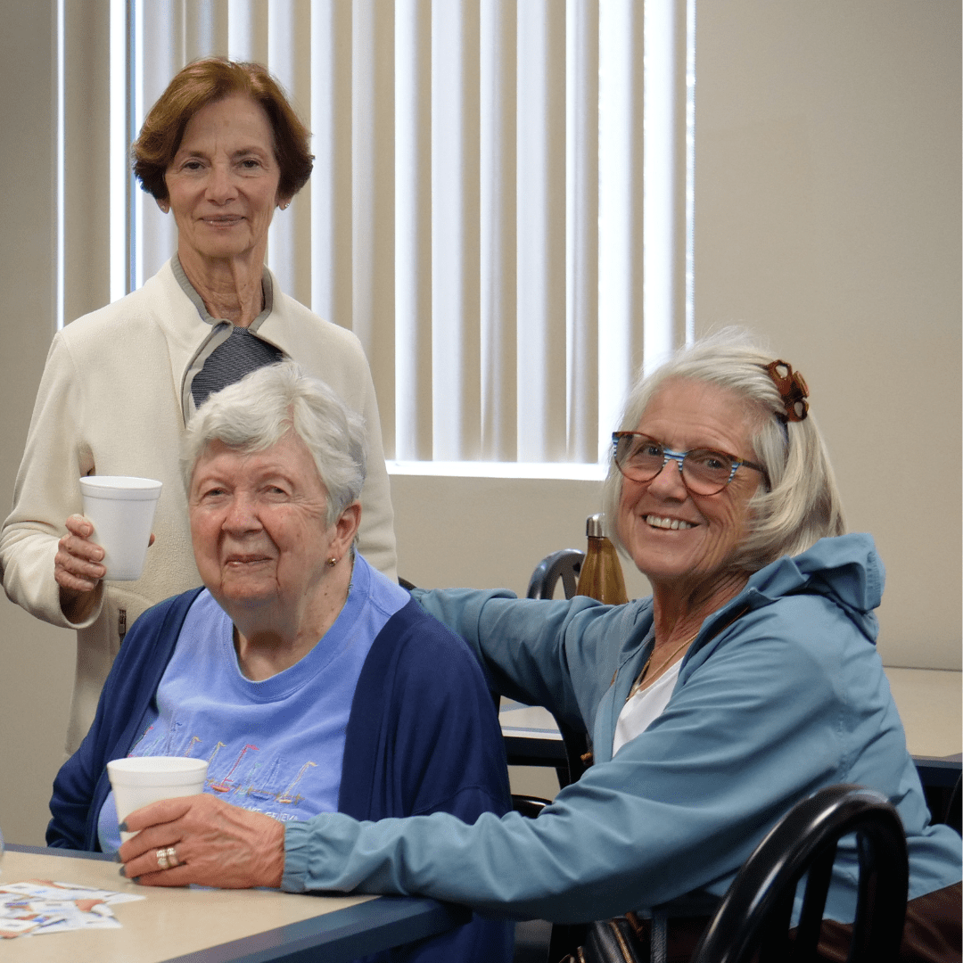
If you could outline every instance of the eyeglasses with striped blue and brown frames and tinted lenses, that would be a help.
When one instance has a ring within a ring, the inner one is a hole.
[[[711,448],[673,452],[638,431],[612,431],[612,457],[618,470],[632,481],[652,481],[671,458],[679,465],[683,484],[693,495],[717,495],[744,465],[759,472],[768,484],[766,469]]]

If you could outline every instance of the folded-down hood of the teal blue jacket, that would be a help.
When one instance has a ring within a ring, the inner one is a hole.
[[[879,623],[873,610],[882,601],[885,580],[872,535],[858,533],[820,538],[801,555],[772,562],[750,577],[746,590],[768,601],[798,591],[824,595],[875,642]]]

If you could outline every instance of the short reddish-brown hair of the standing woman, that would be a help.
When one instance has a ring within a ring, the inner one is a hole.
[[[144,191],[157,200],[168,199],[164,175],[180,147],[188,122],[208,104],[233,93],[246,93],[264,108],[271,121],[274,157],[281,169],[277,194],[290,198],[299,192],[314,167],[314,155],[308,150],[310,132],[265,67],[225,57],[188,64],[150,108],[141,134],[131,147],[134,173]]]

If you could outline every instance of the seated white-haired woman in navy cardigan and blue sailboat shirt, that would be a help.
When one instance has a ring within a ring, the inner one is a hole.
[[[211,801],[279,830],[319,813],[471,823],[508,811],[481,668],[352,549],[365,445],[360,416],[291,362],[198,409],[184,479],[205,587],[144,612],[125,639],[54,784],[50,846],[120,846],[105,767],[125,755],[206,757]],[[214,850],[223,829],[207,836]],[[172,865],[174,882],[228,868],[221,851],[165,843],[153,868]],[[508,935],[477,918],[418,958],[502,958]]]

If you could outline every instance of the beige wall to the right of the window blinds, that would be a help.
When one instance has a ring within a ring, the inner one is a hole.
[[[695,315],[806,376],[889,665],[960,667],[960,4],[697,6]]]

